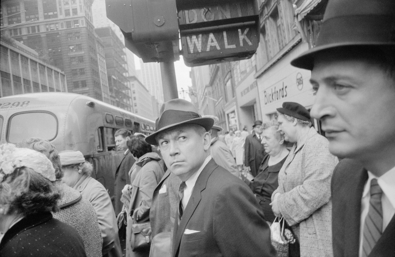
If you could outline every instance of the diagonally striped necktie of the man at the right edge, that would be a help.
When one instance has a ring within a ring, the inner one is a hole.
[[[372,179],[370,188],[369,211],[363,227],[363,257],[367,257],[372,251],[376,242],[381,237],[383,227],[383,209],[381,206],[381,196],[383,191],[377,183],[377,179]]]

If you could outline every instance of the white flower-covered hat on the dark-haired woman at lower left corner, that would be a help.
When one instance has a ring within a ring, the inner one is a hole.
[[[11,174],[16,168],[33,169],[49,181],[55,181],[55,169],[47,156],[28,148],[18,148],[14,144],[0,145],[0,182],[5,175]]]

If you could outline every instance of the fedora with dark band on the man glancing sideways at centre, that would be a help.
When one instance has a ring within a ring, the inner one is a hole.
[[[160,116],[155,122],[155,132],[147,136],[145,141],[151,145],[158,145],[155,137],[160,132],[183,124],[198,124],[209,131],[213,127],[214,119],[201,117],[191,102],[173,99],[162,104]]]

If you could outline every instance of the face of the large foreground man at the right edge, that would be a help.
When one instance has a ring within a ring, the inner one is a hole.
[[[315,58],[311,83],[310,115],[321,119],[332,154],[361,160],[394,151],[395,82],[378,65],[324,53]]]

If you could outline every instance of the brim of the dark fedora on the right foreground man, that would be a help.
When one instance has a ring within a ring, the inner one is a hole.
[[[355,43],[355,42],[343,42],[343,43],[333,43],[328,45],[323,45],[320,47],[314,47],[310,50],[299,55],[297,58],[291,61],[291,65],[301,69],[307,69],[312,71],[314,68],[314,57],[325,50],[334,49],[334,48],[341,48],[341,47],[350,47],[350,46],[388,46],[394,45],[393,43],[383,44],[383,43]]]

